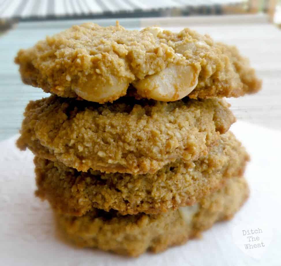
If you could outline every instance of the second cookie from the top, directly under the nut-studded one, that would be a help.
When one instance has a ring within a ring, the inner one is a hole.
[[[25,110],[20,149],[87,172],[155,173],[207,154],[235,117],[224,100],[157,102],[123,97],[97,104],[50,96]]]

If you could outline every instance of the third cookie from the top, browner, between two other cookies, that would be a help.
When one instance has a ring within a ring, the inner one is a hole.
[[[167,164],[156,174],[78,172],[62,163],[35,157],[38,190],[63,214],[81,216],[94,208],[121,214],[159,213],[191,205],[241,176],[249,157],[231,132],[221,135],[207,156],[197,161]]]

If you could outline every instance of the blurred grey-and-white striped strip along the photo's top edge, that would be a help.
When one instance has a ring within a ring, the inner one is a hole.
[[[42,21],[268,13],[280,22],[278,0],[1,0],[2,24]]]

